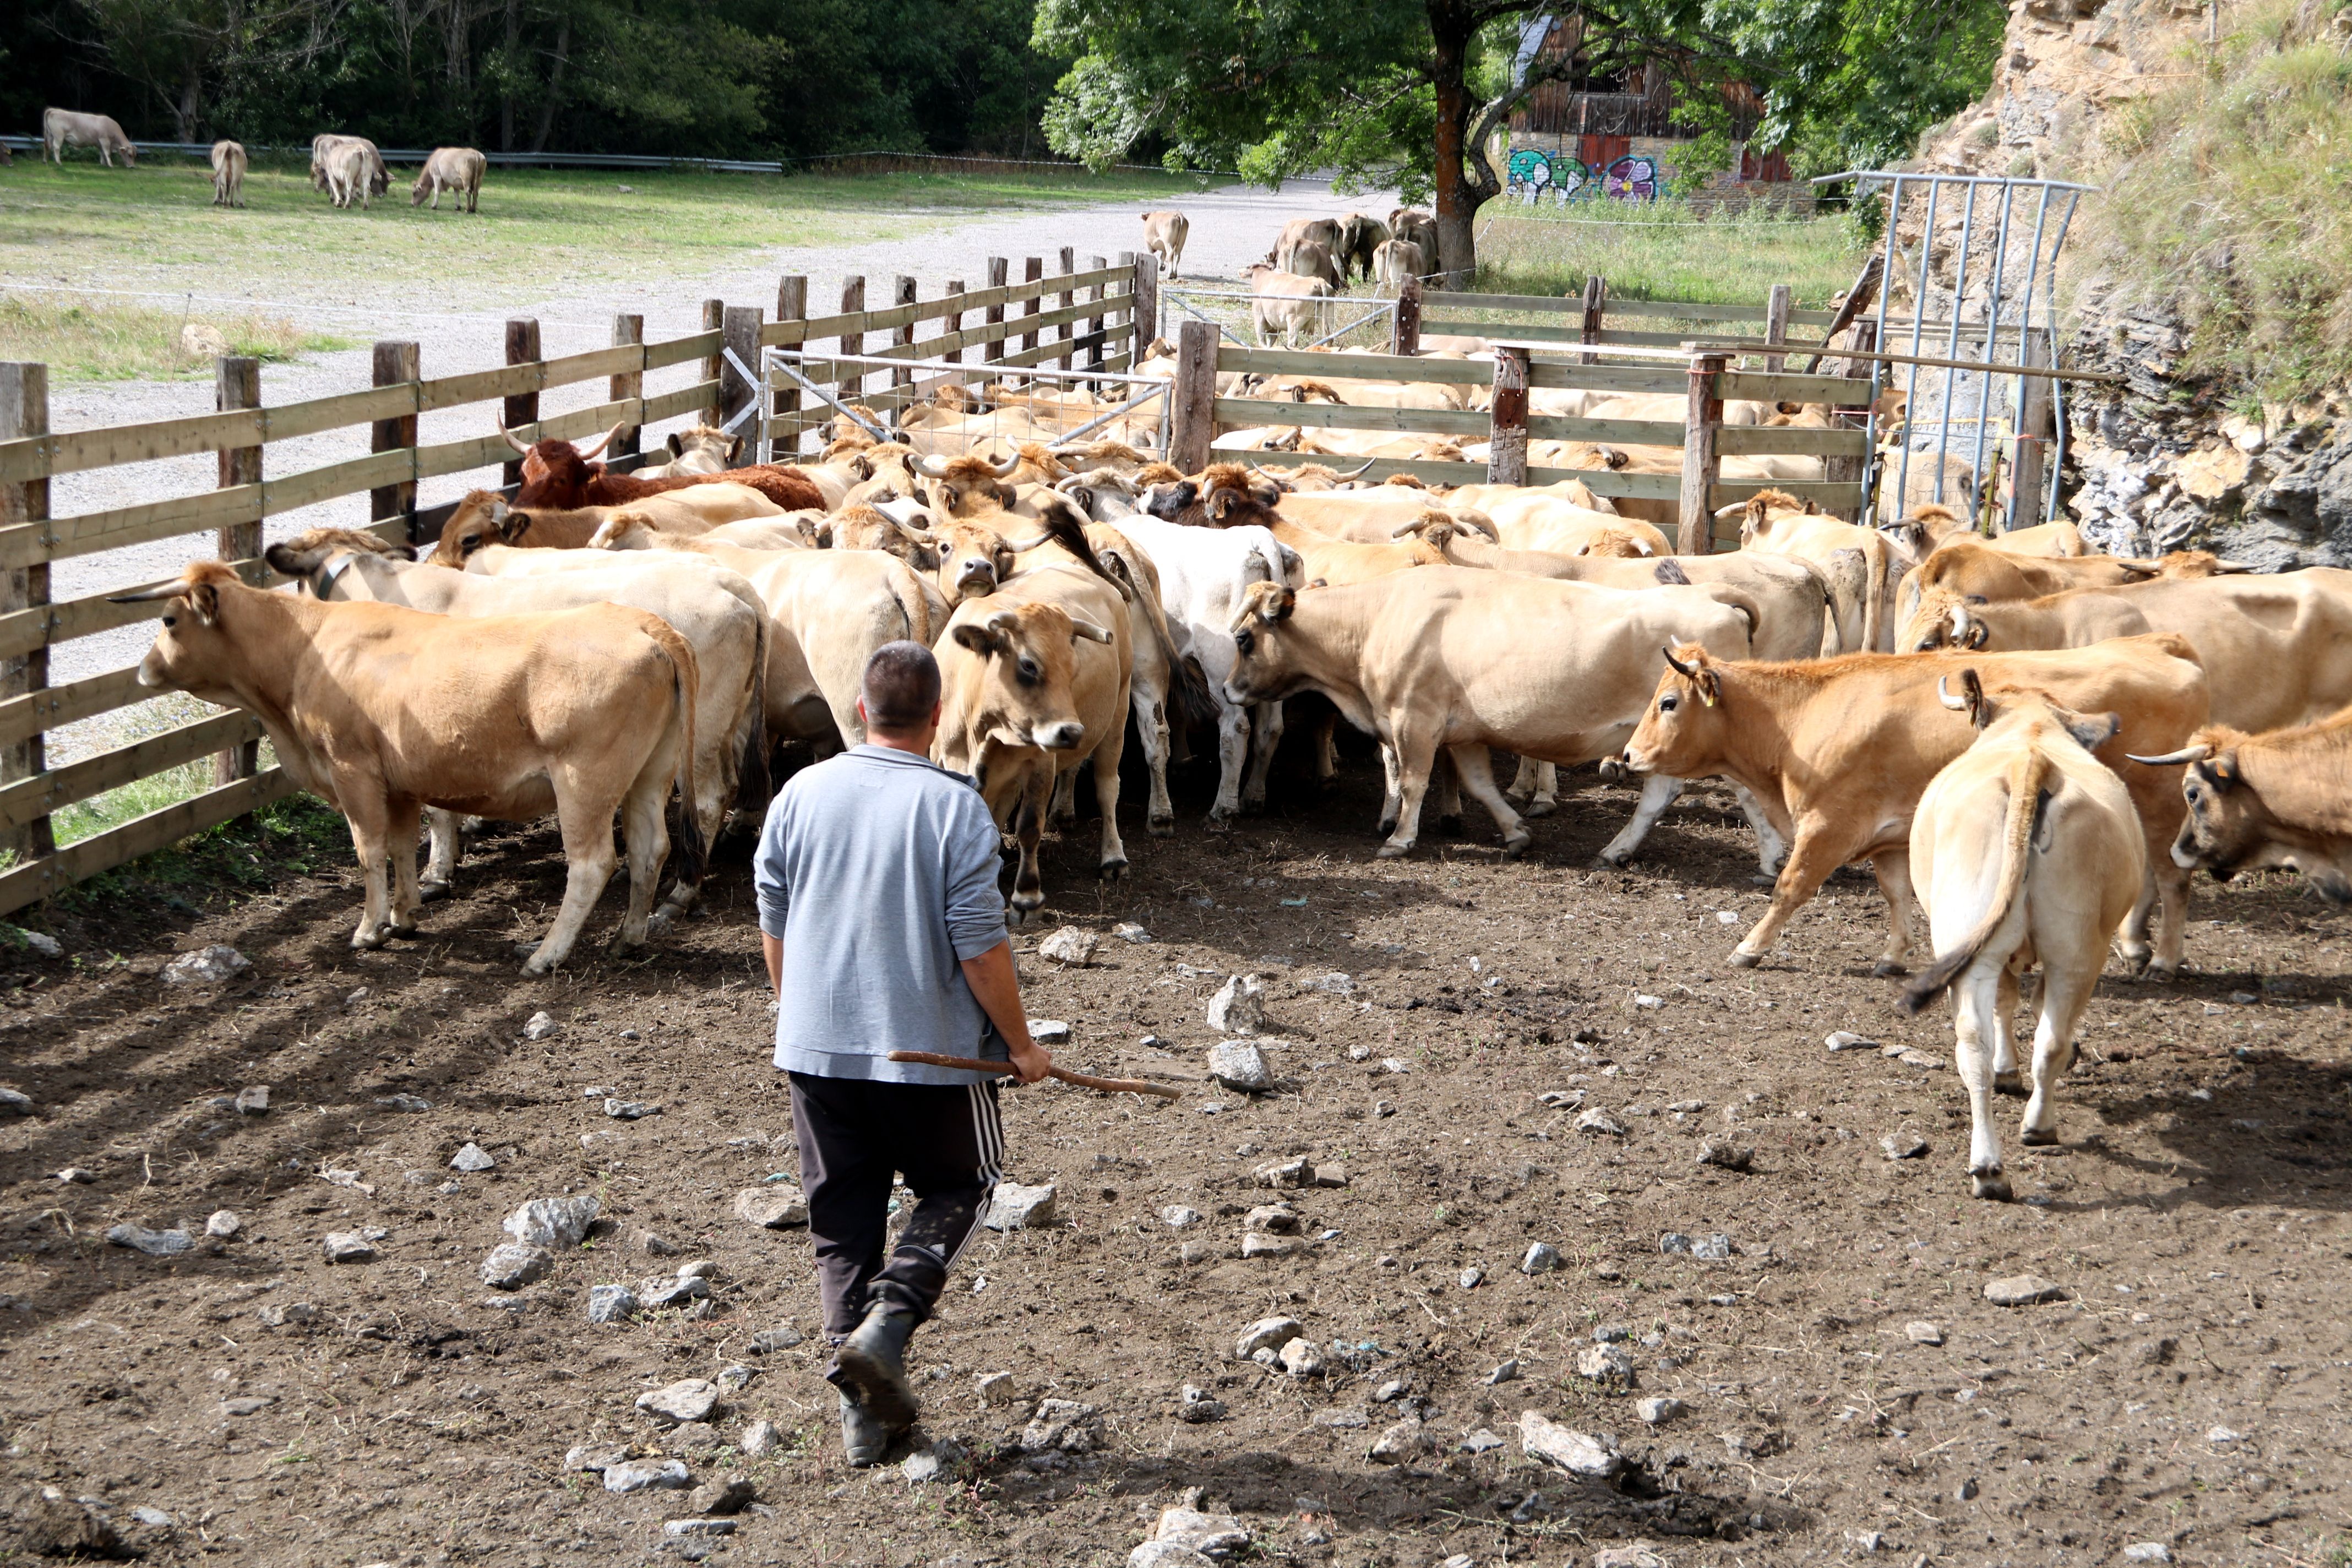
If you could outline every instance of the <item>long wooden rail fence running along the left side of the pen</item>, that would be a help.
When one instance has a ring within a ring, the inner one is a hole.
[[[214,414],[73,433],[49,430],[47,367],[0,364],[0,846],[14,851],[14,863],[0,870],[0,914],[294,792],[282,769],[259,766],[261,724],[247,712],[209,715],[52,769],[49,731],[132,708],[153,693],[136,684],[136,670],[52,686],[49,651],[155,616],[153,604],[108,599],[148,583],[118,583],[99,595],[52,602],[54,562],[195,534],[247,581],[266,583],[273,581],[261,562],[261,524],[268,517],[365,494],[372,531],[430,543],[452,508],[419,510],[421,480],[503,465],[503,484],[513,489],[520,470],[496,423],[524,440],[581,440],[623,425],[612,456],[616,468],[633,468],[642,425],[689,414],[736,425],[750,418],[753,367],[762,346],[800,348],[833,339],[847,353],[861,353],[866,334],[891,334],[889,353],[906,350],[908,357],[969,348],[1007,367],[1089,355],[1089,362],[1101,357],[1115,369],[1134,353],[1138,310],[1150,322],[1157,308],[1148,256],[1141,263],[1122,256],[1120,266],[1094,259],[1087,273],[1077,273],[1070,252],[1063,252],[1054,275],[1047,275],[1042,256],[1030,256],[1021,282],[1007,277],[1009,261],[990,259],[985,289],[964,294],[950,287],[929,303],[917,303],[915,280],[898,277],[896,303],[880,310],[866,310],[866,280],[851,277],[842,287],[842,313],[830,317],[807,315],[807,277],[786,277],[774,320],[762,308],[703,301],[701,331],[647,343],[644,317],[619,315],[612,348],[553,360],[539,353],[539,322],[513,320],[506,367],[430,381],[421,376],[416,343],[376,343],[374,386],[278,407],[259,407],[259,364],[230,357],[219,362]],[[969,315],[978,315],[978,324],[964,327]],[[943,320],[948,331],[915,343],[915,324],[929,320]],[[1009,348],[1014,341],[1018,348]],[[644,376],[677,364],[699,364],[699,376],[647,397]],[[910,395],[906,383],[868,395],[868,374],[866,367],[842,367],[840,386],[882,407]],[[541,418],[541,393],[597,378],[607,383],[602,402]],[[419,442],[421,414],[494,400],[496,409],[482,409],[482,435]],[[760,411],[762,435],[797,449],[800,433],[821,423],[823,411],[804,414],[797,395],[793,407],[786,402],[779,395],[774,409]],[[270,444],[355,425],[369,428],[367,456],[266,475]],[[73,517],[49,515],[49,482],[59,475],[207,451],[219,454],[214,489]],[[214,757],[214,788],[56,846],[54,811],[207,755]]]

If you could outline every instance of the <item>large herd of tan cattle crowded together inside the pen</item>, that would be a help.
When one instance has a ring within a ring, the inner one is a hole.
[[[1381,856],[1414,849],[1432,788],[1439,813],[1468,792],[1517,856],[1524,818],[1559,806],[1557,769],[1599,764],[1639,783],[1599,856],[1623,865],[1689,780],[1722,778],[1773,877],[1731,961],[1757,964],[1839,865],[1870,860],[1879,973],[1919,961],[1912,1006],[1955,994],[1987,1197],[2006,1194],[1994,1086],[2030,1086],[2027,1143],[2056,1135],[2110,940],[2133,971],[2176,973],[2194,867],[2293,867],[2352,903],[2347,571],[2089,555],[2070,524],[1983,538],[1938,505],[1865,529],[1780,491],[1724,508],[1738,550],[1677,557],[1573,480],[1439,491],[1268,454],[1188,475],[1117,423],[1124,440],[1058,442],[1098,414],[1080,390],[983,395],[974,411],[943,390],[891,430],[858,409],[804,463],[741,465],[741,437],[694,430],[619,473],[597,461],[612,435],[508,435],[520,491],[470,494],[423,562],[313,529],[268,550],[299,592],[216,564],[148,590],[169,604],[141,682],[252,710],[350,818],[355,945],[416,929],[456,875],[461,818],[555,811],[569,879],[532,973],[612,877],[616,813],[626,945],[694,905],[779,748],[858,741],[863,663],[901,637],[938,654],[936,757],[1018,851],[1016,919],[1044,903],[1040,837],[1075,818],[1080,771],[1096,865],[1124,872],[1129,719],[1152,835],[1174,832],[1167,764],[1195,743],[1216,748],[1211,823],[1263,806],[1303,693],[1327,698],[1317,778],[1338,719],[1378,741]],[[1510,788],[1494,752],[1517,759]],[[2037,961],[2020,1067],[2009,1020]]]

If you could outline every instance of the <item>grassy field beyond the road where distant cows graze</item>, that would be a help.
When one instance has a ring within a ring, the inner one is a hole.
[[[336,212],[308,167],[256,165],[247,207],[212,207],[212,172],[16,160],[0,172],[0,284],[160,287],[310,303],[494,310],[572,289],[703,277],[788,244],[903,240],[976,214],[1195,190],[1157,174],[790,176],[492,169],[477,214],[409,207],[414,169],[367,212]]]

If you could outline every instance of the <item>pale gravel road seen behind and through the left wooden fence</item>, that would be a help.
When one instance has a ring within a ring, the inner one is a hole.
[[[1169,200],[1192,219],[1190,244],[1185,249],[1183,275],[1192,282],[1232,280],[1244,266],[1258,261],[1272,244],[1287,219],[1341,214],[1350,209],[1388,212],[1392,193],[1364,193],[1338,197],[1327,183],[1294,181],[1279,193],[1249,186],[1228,186],[1200,195]],[[889,277],[910,275],[920,280],[922,294],[934,296],[948,280],[962,277],[978,287],[985,280],[988,256],[1014,259],[1018,277],[1021,256],[1042,254],[1047,266],[1063,244],[1073,244],[1080,266],[1089,254],[1117,254],[1138,249],[1143,230],[1136,216],[1145,202],[1080,205],[1021,216],[974,219],[917,240],[891,240],[875,244],[840,247],[776,247],[760,256],[755,266],[743,266],[706,277],[677,280],[666,287],[644,287],[640,294],[604,294],[600,299],[548,296],[515,310],[447,310],[445,287],[430,292],[416,284],[407,292],[376,289],[374,303],[350,299],[350,280],[320,280],[308,299],[247,299],[235,292],[233,280],[188,280],[200,296],[235,301],[240,308],[259,308],[270,315],[287,315],[315,322],[355,341],[414,339],[421,346],[426,376],[454,376],[477,369],[496,369],[506,360],[506,320],[513,315],[536,315],[541,350],[546,355],[569,355],[602,348],[612,341],[612,317],[621,310],[644,315],[647,339],[673,339],[701,327],[701,301],[727,299],[739,303],[762,303],[774,308],[776,277],[788,273],[809,275],[809,301],[814,313],[826,313],[840,299],[840,280],[866,275],[868,299],[887,303]],[[0,280],[7,287],[7,280]],[[689,386],[694,364],[670,367],[647,376],[647,393],[663,393]],[[263,404],[301,402],[348,393],[369,383],[369,350],[315,355],[294,364],[266,364],[261,369]],[[550,390],[541,409],[562,414],[588,407],[604,395],[602,381],[588,381]],[[73,383],[54,388],[49,395],[49,423],[56,430],[87,430],[94,425],[129,425],[158,418],[179,418],[212,411],[212,386],[207,381],[108,381]],[[480,407],[445,409],[426,414],[419,440],[449,442],[480,430]],[[649,442],[670,428],[691,423],[668,421],[649,430]],[[275,442],[268,449],[268,473],[289,475],[325,463],[339,463],[367,454],[367,425],[329,430],[313,437]],[[101,468],[94,473],[64,475],[52,484],[52,515],[73,517],[80,512],[132,505],[169,494],[209,489],[216,480],[216,461],[205,456],[167,458],[155,463],[132,463]],[[463,475],[426,480],[419,501],[435,505],[454,501],[463,491],[494,482],[496,470],[485,468]],[[268,522],[268,538],[285,538],[301,529],[322,524],[365,524],[367,498],[343,496],[320,505],[285,512]],[[129,583],[146,583],[169,576],[191,559],[212,555],[207,536],[179,536],[103,555],[59,562],[52,574],[54,599],[78,599]],[[52,651],[49,679],[64,684],[115,670],[146,651],[146,625],[129,625],[96,637],[59,644]],[[103,715],[85,724],[52,731],[52,766],[89,755],[106,745],[118,745],[132,712]]]

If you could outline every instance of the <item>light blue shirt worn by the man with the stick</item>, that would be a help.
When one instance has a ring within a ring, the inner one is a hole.
[[[962,961],[1004,940],[1002,837],[962,773],[884,745],[802,769],[753,860],[760,929],[783,940],[776,1065],[828,1079],[969,1084],[887,1060],[1007,1060]]]

